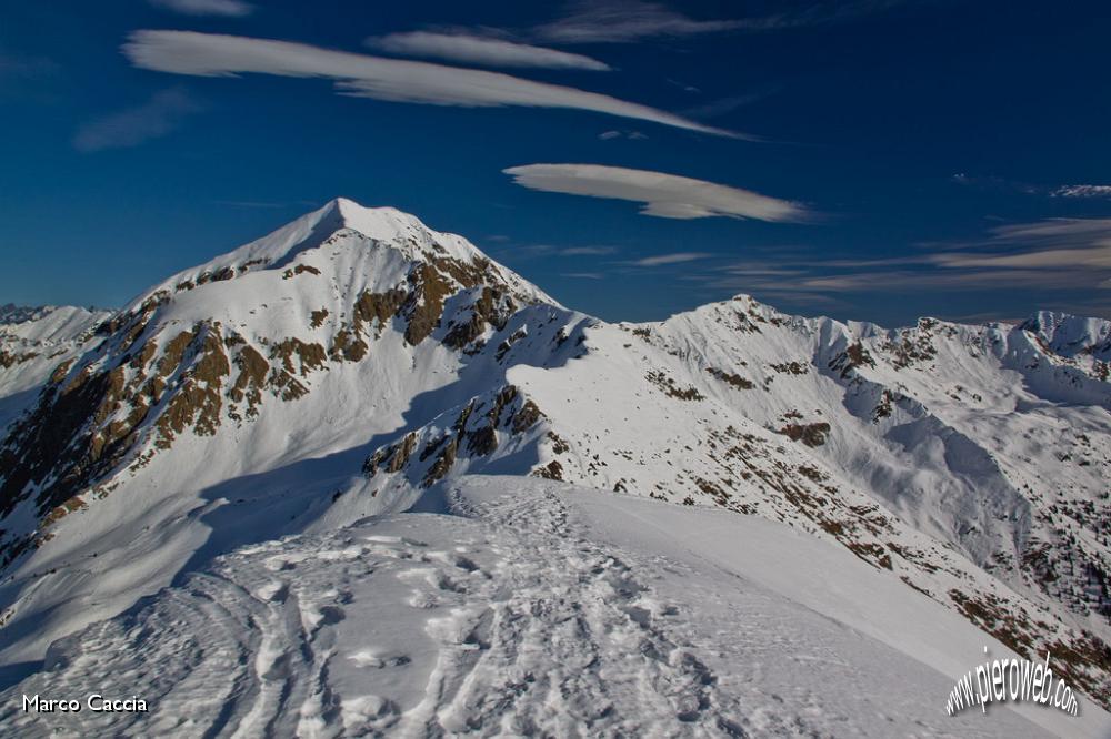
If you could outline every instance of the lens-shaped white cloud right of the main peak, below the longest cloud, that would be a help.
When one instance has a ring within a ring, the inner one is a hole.
[[[527,164],[502,172],[531,190],[644,203],[641,213],[664,219],[805,221],[809,216],[798,203],[663,172],[601,164]]]

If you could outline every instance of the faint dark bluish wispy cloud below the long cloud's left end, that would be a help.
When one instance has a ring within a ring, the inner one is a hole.
[[[83,124],[73,135],[73,146],[84,152],[138,146],[167,135],[199,110],[200,103],[184,91],[163,90],[140,105]]]

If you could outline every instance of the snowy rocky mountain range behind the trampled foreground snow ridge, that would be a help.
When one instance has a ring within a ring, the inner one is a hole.
[[[784,524],[1111,708],[1109,374],[1111,323],[1047,312],[607,323],[336,200],[113,313],[0,308],[0,660],[483,475]]]

